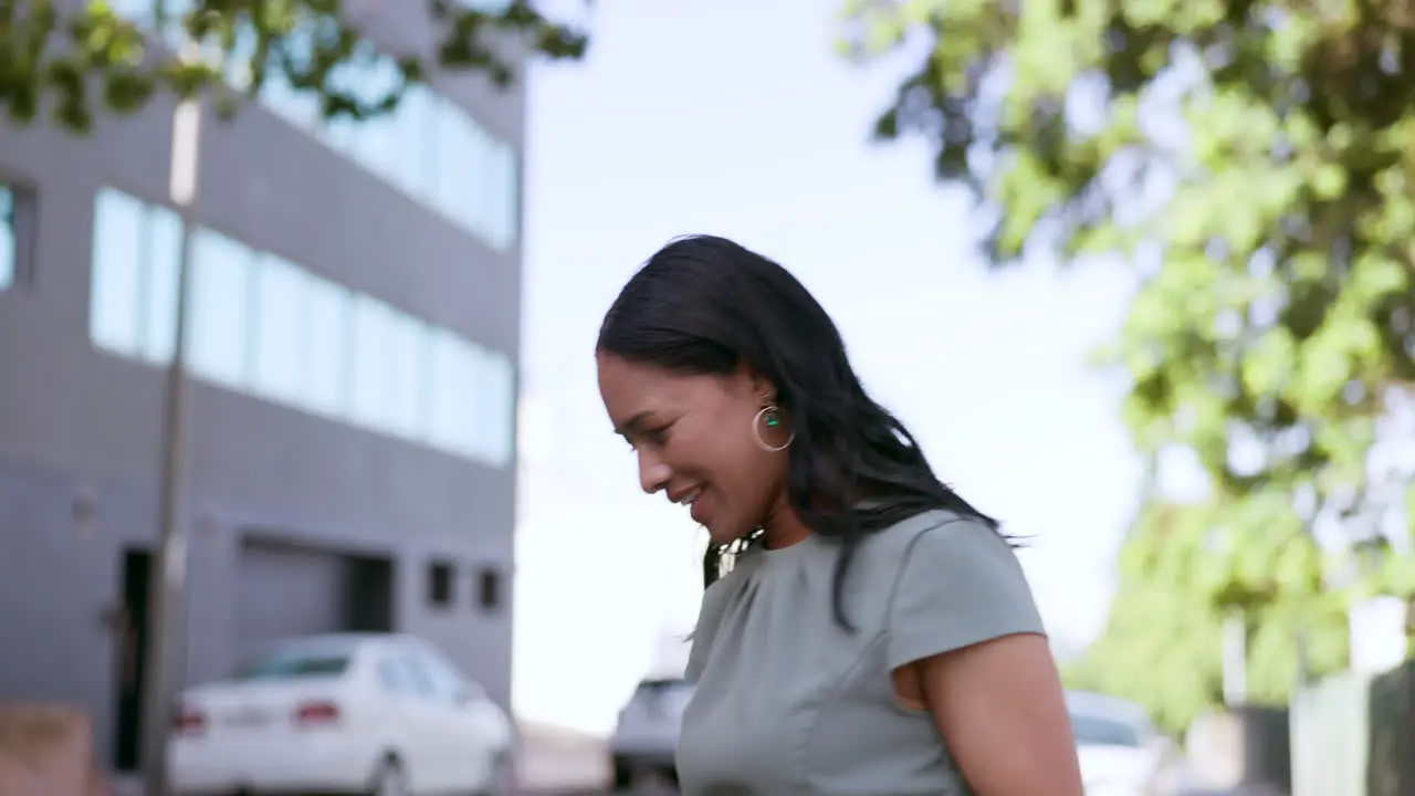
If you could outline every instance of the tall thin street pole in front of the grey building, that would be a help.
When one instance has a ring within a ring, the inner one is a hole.
[[[190,55],[184,54],[184,55]],[[177,329],[167,367],[163,406],[161,525],[149,592],[147,649],[143,661],[142,752],[146,796],[170,796],[167,738],[174,697],[183,681],[187,623],[187,432],[190,380],[187,375],[187,293],[191,283],[192,204],[201,137],[201,102],[183,99],[173,113],[171,200],[181,218],[177,258]]]

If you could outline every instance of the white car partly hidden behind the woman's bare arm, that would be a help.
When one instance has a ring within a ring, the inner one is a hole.
[[[1173,745],[1143,707],[1102,694],[1067,691],[1085,796],[1163,796]]]

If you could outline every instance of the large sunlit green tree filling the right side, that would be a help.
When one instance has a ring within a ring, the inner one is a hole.
[[[920,58],[876,133],[935,144],[935,174],[981,200],[990,262],[1133,269],[1105,353],[1132,380],[1125,422],[1143,455],[1197,462],[1208,490],[1179,525],[1142,513],[1088,666],[1136,676],[1183,656],[1211,673],[1213,639],[1163,642],[1228,610],[1248,618],[1265,701],[1293,686],[1293,637],[1317,673],[1344,663],[1333,599],[1415,592],[1408,555],[1347,567],[1415,530],[1408,463],[1373,456],[1415,435],[1415,14],[850,0],[846,20],[853,57]],[[1177,721],[1193,705],[1156,680],[1133,690]],[[1186,698],[1213,701],[1211,686]]]

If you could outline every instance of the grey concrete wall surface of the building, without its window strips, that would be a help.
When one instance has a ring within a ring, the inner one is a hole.
[[[427,35],[408,14],[378,28],[393,44]],[[519,149],[521,91],[473,76],[437,88]],[[518,358],[519,245],[494,251],[259,106],[207,129],[200,224]],[[0,130],[0,178],[37,200],[34,269],[0,292],[0,700],[88,707],[100,758],[120,552],[156,538],[163,373],[89,344],[93,197],[113,186],[163,203],[170,137],[167,101],[102,120],[89,139]],[[437,642],[509,703],[514,462],[487,467],[202,384],[190,450],[188,680],[235,663],[235,557],[242,531],[260,528],[393,554],[396,627]],[[424,603],[430,555],[461,565],[450,610]],[[505,575],[494,615],[473,605],[483,565]]]

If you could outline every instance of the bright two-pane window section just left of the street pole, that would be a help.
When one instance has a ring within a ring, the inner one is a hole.
[[[181,221],[166,207],[112,188],[93,205],[89,339],[153,364],[171,360],[177,334]]]

